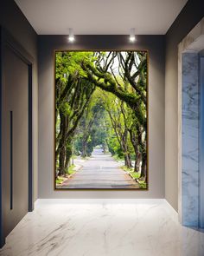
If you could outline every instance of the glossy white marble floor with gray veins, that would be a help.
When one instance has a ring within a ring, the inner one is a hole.
[[[10,233],[3,256],[203,256],[204,231],[181,226],[165,200],[40,200]]]

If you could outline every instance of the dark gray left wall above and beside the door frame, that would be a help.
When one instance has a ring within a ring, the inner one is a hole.
[[[0,26],[34,58],[33,67],[33,170],[34,200],[37,198],[37,34],[13,0],[0,0]]]

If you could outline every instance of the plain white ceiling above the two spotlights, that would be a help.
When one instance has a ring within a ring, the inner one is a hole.
[[[163,35],[187,0],[15,0],[40,35]]]

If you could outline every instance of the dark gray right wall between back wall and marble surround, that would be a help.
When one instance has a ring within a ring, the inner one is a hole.
[[[165,198],[178,209],[178,43],[204,16],[204,1],[189,0],[166,34]]]

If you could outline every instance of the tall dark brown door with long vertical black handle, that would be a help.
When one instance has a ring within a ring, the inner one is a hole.
[[[3,231],[29,209],[29,66],[10,47],[3,54]]]

